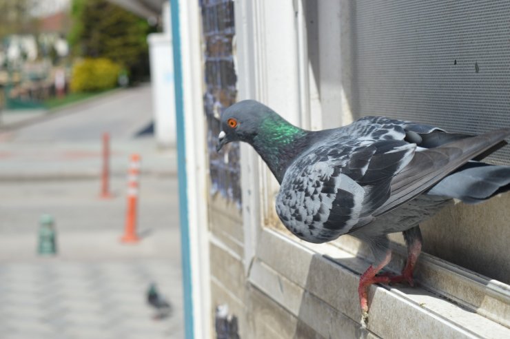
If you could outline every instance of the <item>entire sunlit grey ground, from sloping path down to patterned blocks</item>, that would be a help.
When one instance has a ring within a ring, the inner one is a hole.
[[[0,132],[0,338],[183,338],[175,151],[134,137],[151,119],[144,86]],[[103,132],[110,199],[99,196]],[[125,245],[132,152],[142,158],[142,239]],[[56,256],[37,254],[41,214],[55,219]],[[152,282],[172,304],[167,318],[145,301]]]

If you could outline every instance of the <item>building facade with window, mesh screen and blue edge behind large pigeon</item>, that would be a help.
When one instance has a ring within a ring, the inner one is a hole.
[[[365,326],[367,247],[298,240],[276,216],[278,184],[255,152],[212,153],[218,114],[243,99],[311,130],[365,115],[453,132],[509,126],[507,1],[171,4],[188,336],[510,336],[510,194],[422,225],[418,287],[371,287]],[[487,161],[509,156],[505,147]],[[389,269],[399,271],[405,248],[392,240]]]

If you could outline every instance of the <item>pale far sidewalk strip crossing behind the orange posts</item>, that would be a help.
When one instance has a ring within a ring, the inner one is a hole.
[[[1,135],[1,134],[0,134]],[[101,134],[96,141],[0,141],[0,181],[99,178]],[[154,176],[176,174],[176,151],[160,150],[152,138],[110,142],[112,176],[125,176],[132,153],[141,155],[141,171]]]

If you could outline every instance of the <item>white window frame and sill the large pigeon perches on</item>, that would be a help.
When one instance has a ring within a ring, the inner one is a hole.
[[[348,1],[340,3],[334,10],[348,6]],[[338,114],[328,116],[330,110],[325,114],[321,112],[324,105],[318,98],[317,84],[310,76],[307,56],[307,30],[303,19],[306,5],[306,0],[236,1],[238,99],[261,101],[288,121],[305,128],[323,127],[322,119],[329,126],[350,123],[350,109],[347,101],[342,100],[344,88],[339,97],[334,97],[332,92],[332,100],[340,102],[341,118],[338,119]],[[323,17],[324,8],[319,6]],[[348,14],[340,14],[343,25],[347,25]],[[329,16],[332,19],[324,24],[338,30],[341,36],[340,30],[348,28],[337,25],[335,17],[333,11]],[[343,43],[340,41],[341,45]],[[343,49],[340,54],[331,56],[343,57],[349,57],[348,51]],[[331,59],[324,58],[321,65],[331,67]],[[349,70],[335,72],[349,76]],[[350,91],[349,88],[346,90]],[[312,116],[320,116],[321,120],[312,119]],[[353,334],[358,333],[360,310],[356,291],[359,274],[366,269],[366,260],[369,260],[363,244],[343,236],[334,243],[312,245],[265,227],[276,215],[274,194],[278,184],[261,158],[246,144],[241,146],[241,185],[245,274],[249,282],[325,337],[334,337],[339,328],[350,328]],[[405,249],[397,245],[395,253],[401,265],[405,260]],[[412,316],[416,322],[421,322],[421,329],[430,331],[428,335],[431,336],[509,336],[508,285],[427,254],[420,258],[418,270],[420,284],[427,289],[371,287],[371,321],[367,331],[383,338],[411,337],[405,321]],[[431,291],[456,303],[438,298]],[[324,319],[331,320],[327,326]],[[416,334],[424,335],[422,332]]]

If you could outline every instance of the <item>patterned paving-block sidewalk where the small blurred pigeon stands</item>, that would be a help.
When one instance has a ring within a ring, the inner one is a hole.
[[[180,281],[167,260],[47,260],[0,265],[0,338],[183,338]],[[170,318],[145,304],[152,281],[172,300]]]

